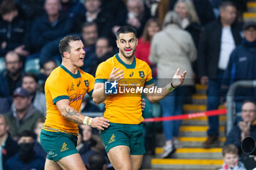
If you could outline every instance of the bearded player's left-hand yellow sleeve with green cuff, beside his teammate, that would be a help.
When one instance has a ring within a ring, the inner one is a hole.
[[[110,66],[110,63],[107,62],[102,62],[99,64],[97,71],[96,71],[96,76],[95,76],[95,83],[97,82],[103,82],[105,83],[108,81],[109,75],[112,72],[112,66]]]

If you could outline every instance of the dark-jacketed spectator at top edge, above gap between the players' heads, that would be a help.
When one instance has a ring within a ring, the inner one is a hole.
[[[110,36],[111,34],[111,16],[108,11],[101,9],[101,0],[85,0],[84,7],[86,11],[80,15],[80,23],[97,24],[99,36]]]

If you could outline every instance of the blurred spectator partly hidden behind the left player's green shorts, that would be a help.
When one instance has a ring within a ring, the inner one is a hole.
[[[45,150],[42,149],[41,142],[40,142],[40,134],[42,130],[42,126],[45,123],[45,118],[37,120],[36,128],[34,128],[34,134],[37,135],[37,138],[34,140],[34,152],[40,155],[42,158],[46,158],[47,153]]]

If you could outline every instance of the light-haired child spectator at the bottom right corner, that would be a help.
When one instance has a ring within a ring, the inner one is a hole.
[[[239,161],[238,148],[233,144],[227,144],[222,148],[222,156],[224,163],[222,169],[219,170],[246,170],[244,163]]]

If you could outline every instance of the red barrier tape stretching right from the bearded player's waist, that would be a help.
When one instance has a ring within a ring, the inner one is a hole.
[[[155,118],[146,118],[143,122],[160,122],[167,120],[182,120],[182,119],[191,119],[195,117],[204,117],[204,116],[216,116],[216,115],[224,115],[227,113],[227,109],[215,109],[206,112],[197,112],[197,113],[189,113],[186,115],[176,115],[169,117],[155,117]]]

